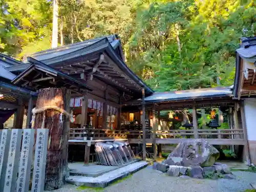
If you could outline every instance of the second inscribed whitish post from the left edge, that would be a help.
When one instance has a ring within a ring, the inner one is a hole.
[[[16,188],[22,131],[21,129],[13,129],[11,133],[4,192],[14,192]]]

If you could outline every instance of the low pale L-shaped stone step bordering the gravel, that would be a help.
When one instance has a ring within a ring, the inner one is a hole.
[[[70,176],[66,179],[67,183],[77,186],[89,186],[89,187],[106,187],[109,184],[127,177],[130,174],[137,172],[138,170],[148,165],[145,161],[135,162],[121,168],[112,170],[98,177],[85,177],[85,176]]]

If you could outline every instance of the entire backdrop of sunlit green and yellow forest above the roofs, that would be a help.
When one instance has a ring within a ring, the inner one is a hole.
[[[1,1],[0,51],[22,59],[51,47],[51,0]],[[253,0],[58,0],[59,44],[118,33],[127,65],[157,91],[230,86]]]

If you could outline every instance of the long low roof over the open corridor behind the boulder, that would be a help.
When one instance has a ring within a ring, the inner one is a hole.
[[[193,102],[196,102],[198,108],[211,108],[215,106],[232,105],[230,87],[192,89],[173,92],[156,92],[151,96],[145,97],[147,109],[156,104],[158,110],[181,110],[193,108]],[[141,99],[122,102],[123,111],[136,111],[140,108]]]

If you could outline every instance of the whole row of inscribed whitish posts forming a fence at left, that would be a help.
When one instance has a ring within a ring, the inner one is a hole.
[[[44,191],[48,132],[37,129],[34,139],[33,129],[0,131],[0,192],[28,192],[32,168],[31,191]]]

